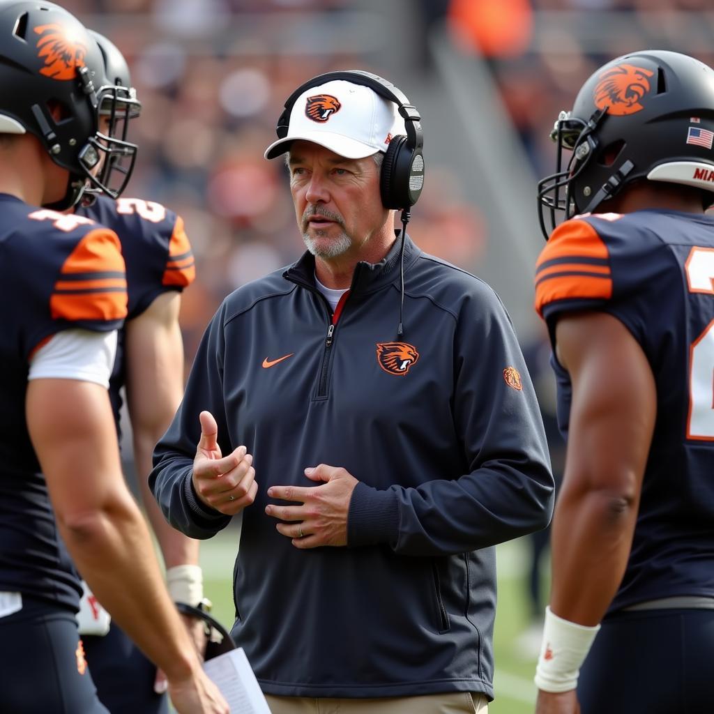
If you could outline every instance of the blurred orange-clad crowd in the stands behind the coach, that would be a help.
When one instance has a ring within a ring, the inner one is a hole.
[[[183,301],[187,364],[218,303],[236,286],[303,250],[281,161],[263,159],[283,101],[306,79],[359,67],[396,45],[371,0],[67,0],[129,60],[143,103],[141,147],[127,196],[166,203],[186,221],[198,279]],[[538,176],[552,170],[548,131],[582,81],[606,59],[654,44],[685,49],[711,36],[707,0],[415,0],[426,38],[446,22],[454,41],[484,56]],[[696,36],[692,33],[698,33]],[[689,34],[688,34],[689,33]],[[688,36],[688,46],[681,47]],[[414,36],[412,36],[413,38]],[[668,38],[670,38],[668,40]],[[656,39],[656,41],[655,41]],[[418,90],[418,77],[412,77]],[[418,91],[416,92],[418,94]],[[414,99],[414,98],[413,98]],[[418,101],[414,99],[418,106]],[[555,109],[557,108],[557,109]],[[428,136],[428,135],[427,135]],[[458,176],[429,156],[413,238],[469,269],[488,238]]]

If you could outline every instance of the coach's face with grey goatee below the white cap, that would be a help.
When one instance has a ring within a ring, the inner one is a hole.
[[[298,227],[313,256],[360,259],[389,211],[379,193],[372,156],[346,159],[311,141],[294,141],[288,159]]]

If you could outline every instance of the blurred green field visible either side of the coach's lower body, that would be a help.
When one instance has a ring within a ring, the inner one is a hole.
[[[213,600],[214,614],[230,628],[233,623],[231,574],[236,554],[237,531],[226,529],[201,543],[205,590]],[[516,638],[527,625],[525,548],[516,540],[497,549],[498,613],[496,615],[496,700],[489,714],[532,714],[535,702],[535,660],[519,655]]]

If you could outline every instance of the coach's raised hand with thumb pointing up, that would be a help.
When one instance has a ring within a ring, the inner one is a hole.
[[[258,493],[253,456],[245,446],[238,446],[228,456],[221,456],[218,426],[209,411],[198,415],[201,441],[193,459],[193,489],[201,502],[226,516],[235,516],[255,501]]]

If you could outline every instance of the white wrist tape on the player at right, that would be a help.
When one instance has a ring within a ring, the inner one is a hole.
[[[578,684],[580,667],[600,625],[587,627],[563,620],[545,608],[543,643],[535,668],[535,685],[544,692],[568,692]]]

